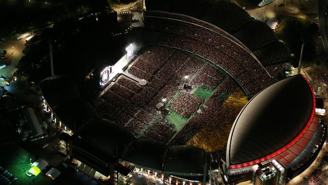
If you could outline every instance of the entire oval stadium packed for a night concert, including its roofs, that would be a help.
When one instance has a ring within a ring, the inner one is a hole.
[[[326,126],[306,79],[284,79],[287,47],[241,7],[204,2],[76,20],[83,43],[63,56],[79,58],[55,55],[40,88],[77,169],[108,183],[285,184],[313,162]]]

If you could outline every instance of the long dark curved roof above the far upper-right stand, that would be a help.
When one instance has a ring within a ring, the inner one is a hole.
[[[175,3],[172,3],[175,2]],[[198,8],[195,10],[195,7]],[[254,20],[236,4],[214,0],[199,5],[199,1],[146,0],[147,11],[165,11],[192,16],[211,23],[235,36],[254,53],[263,66],[291,61],[291,55],[274,31],[265,23]]]

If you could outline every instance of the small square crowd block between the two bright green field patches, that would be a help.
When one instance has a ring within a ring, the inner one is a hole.
[[[188,92],[181,92],[170,107],[183,117],[189,118],[196,111],[200,103],[201,99],[194,97]]]

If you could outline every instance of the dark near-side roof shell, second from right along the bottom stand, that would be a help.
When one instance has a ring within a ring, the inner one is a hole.
[[[123,159],[140,166],[162,171],[167,151],[168,147],[164,144],[147,138],[138,138]]]

